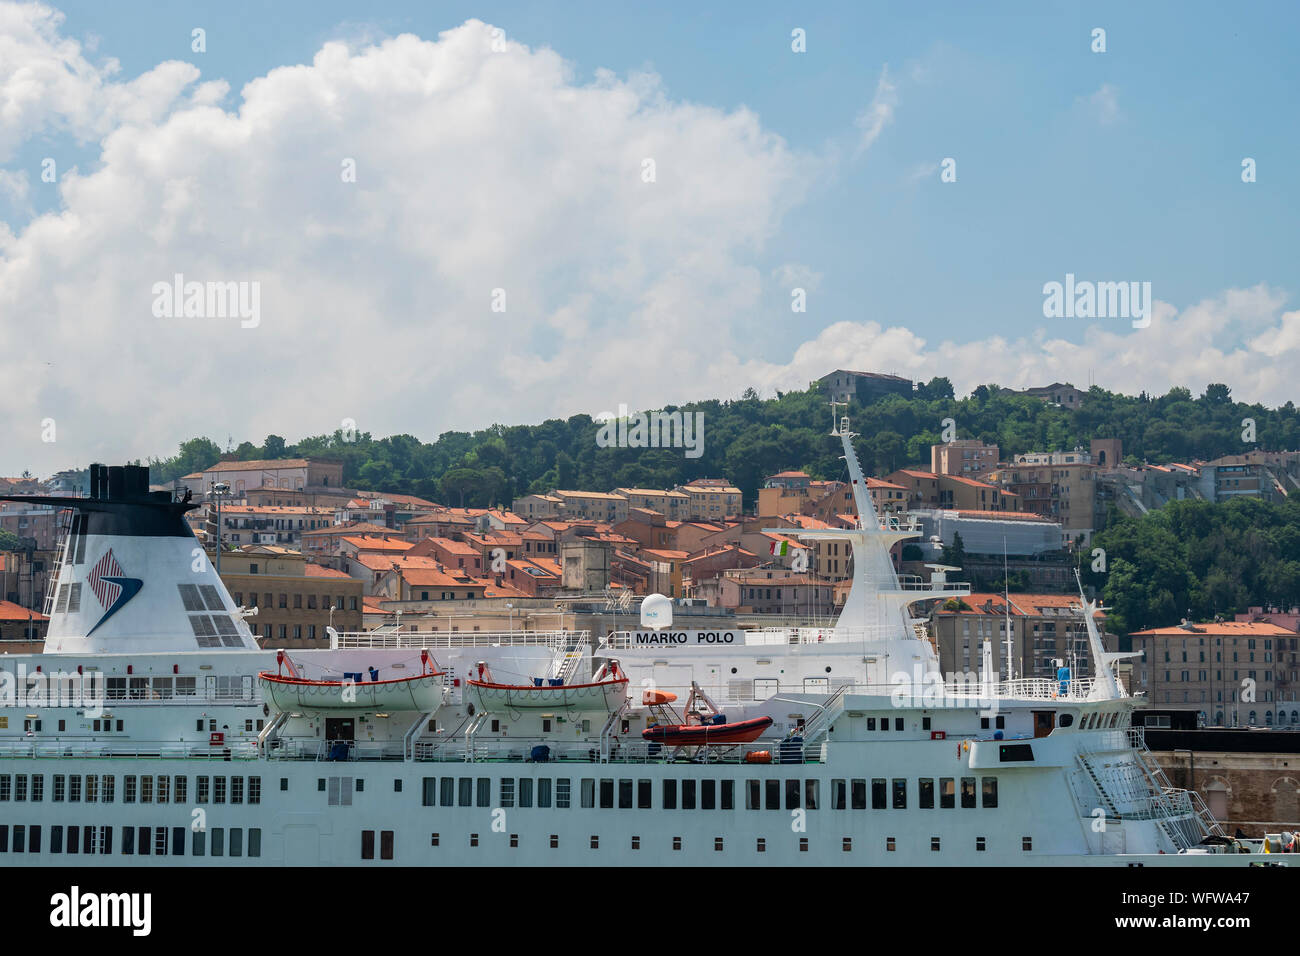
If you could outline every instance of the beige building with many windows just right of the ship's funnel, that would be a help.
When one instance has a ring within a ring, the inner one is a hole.
[[[328,646],[332,623],[337,631],[361,630],[363,583],[298,551],[266,545],[225,551],[221,580],[237,605],[257,609],[244,623],[264,648]]]

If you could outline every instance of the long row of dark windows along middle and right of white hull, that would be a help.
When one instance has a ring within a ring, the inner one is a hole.
[[[659,805],[654,804],[654,782],[629,778],[582,778],[578,780],[578,806],[582,809],[620,810],[733,810],[736,780],[662,780]],[[741,780],[746,810],[815,810],[822,806],[822,780]],[[835,778],[831,780],[832,810],[907,809],[911,784],[906,778]],[[870,801],[868,801],[870,795]],[[502,778],[497,801],[493,803],[491,779],[488,777],[425,777],[425,806],[493,806],[550,808],[573,806],[572,780],[530,777]],[[915,782],[916,806],[922,810],[965,809],[976,805],[997,806],[997,778],[922,777]]]

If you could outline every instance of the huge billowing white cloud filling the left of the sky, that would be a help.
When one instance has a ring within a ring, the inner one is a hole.
[[[344,418],[433,438],[662,402],[746,345],[758,256],[818,163],[655,77],[580,85],[550,49],[493,52],[477,21],[326,43],[235,112],[185,64],[116,82],[58,22],[0,4],[8,52],[36,68],[0,69],[0,103],[20,104],[0,151],[101,138],[57,211],[0,229],[0,350],[30,382],[6,401],[0,473]],[[259,281],[260,325],[155,319],[152,285],[176,273]]]

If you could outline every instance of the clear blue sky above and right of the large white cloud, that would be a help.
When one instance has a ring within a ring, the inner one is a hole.
[[[1300,289],[1300,27],[1295,4],[1013,3],[251,3],[58,4],[134,77],[183,59],[234,94],[309,62],[334,38],[439,31],[477,17],[549,46],[580,82],[653,70],[670,96],[745,105],[792,148],[842,143],[888,66],[894,121],[784,221],[771,261],[824,274],[812,316],[774,324],[779,360],[806,323],[878,317],[920,334],[1020,334],[1043,325],[1041,285],[1143,278],[1190,304],[1232,286]],[[194,26],[208,52],[191,53]],[[807,52],[790,52],[790,30]],[[1105,53],[1091,33],[1106,30]],[[1114,88],[1118,114],[1087,105]],[[1290,117],[1290,120],[1288,120]],[[944,157],[958,181],[914,173]],[[1240,181],[1254,157],[1258,181]],[[1288,297],[1290,298],[1290,297]],[[1052,329],[1070,336],[1069,329]]]

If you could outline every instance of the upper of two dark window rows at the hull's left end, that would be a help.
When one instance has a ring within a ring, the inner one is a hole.
[[[117,779],[112,774],[52,774],[51,801],[110,804],[117,797]],[[44,774],[0,774],[0,803],[39,803],[46,799]],[[194,801],[198,804],[261,803],[260,777],[196,777]],[[122,777],[124,804],[185,804],[190,800],[190,779],[160,774],[126,774]]]

